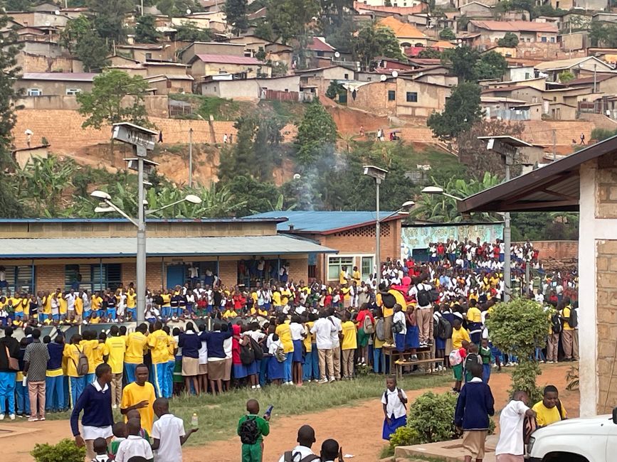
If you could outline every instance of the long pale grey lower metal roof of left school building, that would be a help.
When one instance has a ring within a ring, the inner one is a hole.
[[[150,237],[149,257],[337,253],[291,236]],[[135,237],[0,239],[0,258],[135,257]]]

